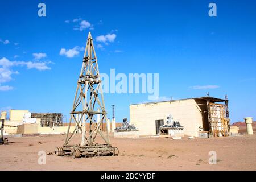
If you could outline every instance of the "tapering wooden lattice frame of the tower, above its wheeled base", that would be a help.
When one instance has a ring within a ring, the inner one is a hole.
[[[96,88],[94,88],[94,85],[96,84],[97,86]],[[88,94],[88,92],[90,94]],[[101,101],[98,98],[98,92],[100,92]],[[88,98],[88,95],[90,98]],[[96,101],[98,106],[100,106],[100,109],[102,110],[100,112],[93,111]],[[82,111],[76,111],[77,107],[79,107],[80,104],[82,105]],[[77,121],[75,114],[82,114],[82,117],[80,117],[79,121]],[[94,122],[94,119],[93,119],[94,114],[102,115],[100,122],[98,123]],[[98,71],[97,56],[93,46],[92,36],[89,33],[85,52],[84,52],[84,59],[82,61],[82,68],[80,71],[79,80],[77,82],[76,94],[73,101],[73,108],[71,112],[71,118],[69,120],[69,127],[68,127],[68,132],[67,132],[64,146],[68,145],[68,143],[76,135],[77,130],[82,131],[82,141],[81,141],[82,147],[92,146],[97,134],[100,134],[102,139],[105,141],[105,143],[109,144],[108,128],[106,129],[107,137],[105,137],[105,135],[100,130],[101,125],[103,124],[104,121],[106,121],[106,114],[107,113],[105,111],[100,73]],[[86,115],[86,119],[85,119],[85,115]],[[69,130],[71,127],[72,120],[76,122],[77,127],[75,127],[72,134],[69,136]],[[89,121],[89,137],[86,137],[85,125],[87,121]],[[80,126],[80,123],[82,123],[82,127]],[[92,130],[92,126],[94,127],[93,130]]]

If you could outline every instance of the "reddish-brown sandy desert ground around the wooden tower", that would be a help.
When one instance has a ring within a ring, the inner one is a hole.
[[[9,137],[0,146],[0,170],[256,170],[256,135],[239,137],[122,139],[110,137],[119,156],[72,159],[46,155],[38,164],[38,152],[53,152],[65,135]],[[77,135],[75,140],[79,140]],[[209,151],[217,152],[217,164],[210,165]]]

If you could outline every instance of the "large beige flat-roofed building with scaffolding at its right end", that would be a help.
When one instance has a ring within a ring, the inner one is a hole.
[[[201,132],[208,132],[210,137],[229,135],[226,99],[200,97],[130,105],[130,123],[139,129],[139,135],[160,134],[160,125],[166,124],[170,114],[184,126],[185,135],[198,137]]]

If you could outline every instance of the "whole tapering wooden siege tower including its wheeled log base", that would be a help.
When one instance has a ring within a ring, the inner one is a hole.
[[[70,115],[65,142],[63,147],[55,148],[56,155],[71,155],[72,158],[118,155],[118,148],[110,145],[108,127],[106,127],[106,134],[101,130],[103,123],[106,123],[107,113],[98,69],[98,60],[90,32],[86,42],[82,68],[77,81],[76,94]],[[97,115],[100,115],[100,121],[96,122]],[[73,131],[71,131],[71,123],[76,124]],[[88,129],[86,129],[86,124]],[[80,143],[72,144],[72,139],[79,133],[81,133]],[[100,135],[104,144],[95,144],[95,139],[98,135]]]

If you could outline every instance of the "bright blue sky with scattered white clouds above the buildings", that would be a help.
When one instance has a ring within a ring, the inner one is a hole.
[[[40,2],[46,4],[46,17],[38,16]],[[208,15],[211,2],[217,5],[217,17]],[[69,117],[81,49],[90,31],[100,72],[114,68],[116,73],[159,73],[160,99],[228,94],[232,122],[256,118],[255,5],[255,1],[1,1],[0,110],[60,112]],[[105,40],[96,41],[97,36]],[[108,117],[115,104],[117,121],[129,118],[129,105],[147,101],[147,96],[105,94]]]

